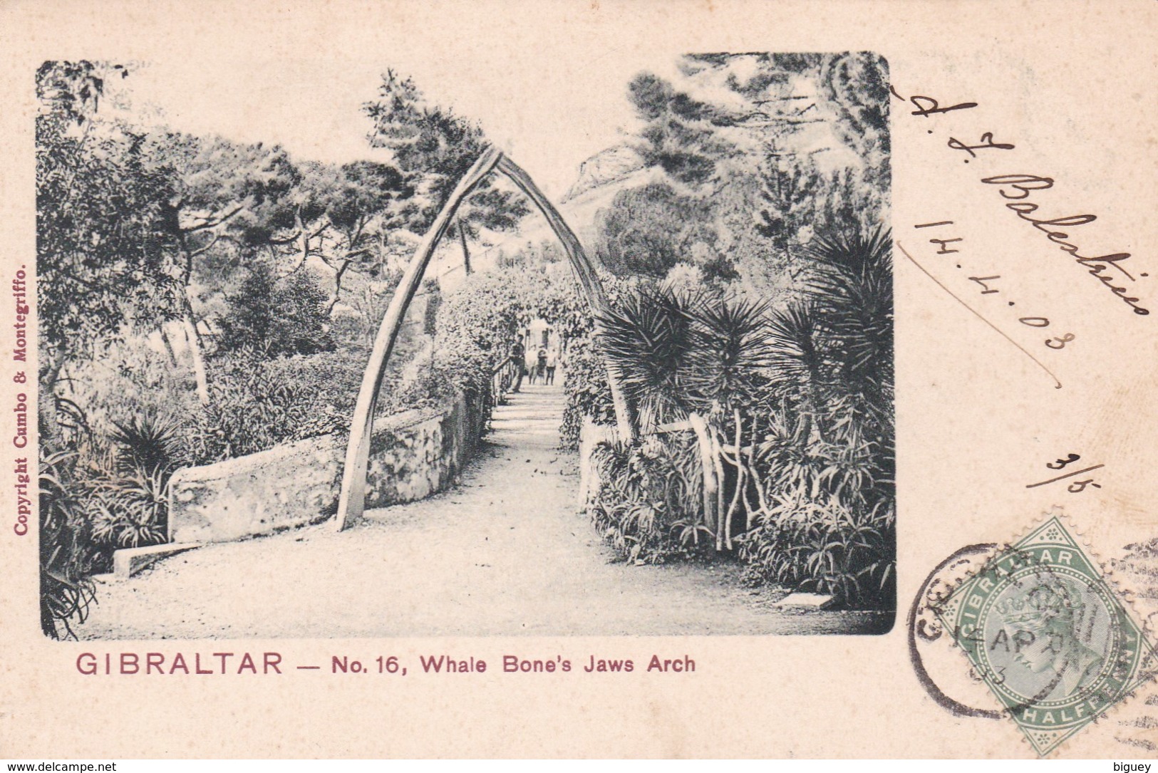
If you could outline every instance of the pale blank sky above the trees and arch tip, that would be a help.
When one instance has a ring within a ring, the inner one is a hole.
[[[137,120],[279,143],[302,159],[383,161],[387,152],[366,141],[371,123],[361,105],[393,68],[412,76],[432,102],[479,120],[500,149],[558,199],[582,161],[623,142],[623,131],[637,126],[626,98],[631,78],[643,69],[666,74],[667,62],[610,51],[594,60],[538,64],[528,68],[477,51],[455,58],[428,50],[375,61],[157,58],[134,71],[125,87]]]

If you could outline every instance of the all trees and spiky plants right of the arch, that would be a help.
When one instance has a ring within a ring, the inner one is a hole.
[[[816,96],[798,102],[806,81]],[[626,558],[676,555],[703,537],[753,583],[891,608],[882,62],[692,56],[673,80],[638,75],[629,97],[643,123],[631,149],[650,170],[599,214],[595,248],[633,286],[602,315],[600,349],[638,410],[640,440],[596,454],[598,528]],[[820,163],[797,110],[856,161]],[[611,422],[592,353],[577,347],[566,373],[569,447],[584,417]],[[673,486],[677,515],[657,493]]]

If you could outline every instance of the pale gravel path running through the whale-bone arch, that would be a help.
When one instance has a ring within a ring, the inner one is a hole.
[[[498,408],[460,485],[330,524],[182,553],[98,587],[81,639],[855,633],[880,616],[789,612],[734,565],[629,566],[577,511],[563,390]],[[886,621],[887,625],[887,621]]]

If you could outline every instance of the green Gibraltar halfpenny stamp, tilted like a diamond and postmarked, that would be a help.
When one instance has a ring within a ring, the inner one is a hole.
[[[1041,756],[1155,673],[1155,650],[1056,517],[998,551],[936,610]]]

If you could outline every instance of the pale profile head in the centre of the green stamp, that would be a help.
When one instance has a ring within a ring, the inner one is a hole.
[[[1105,626],[1094,625],[1097,604],[1058,576],[1034,577],[1001,599],[1001,617],[1013,661],[1035,675],[1049,677],[1043,700],[1057,700],[1089,685],[1105,657],[1087,646],[1102,641]]]

